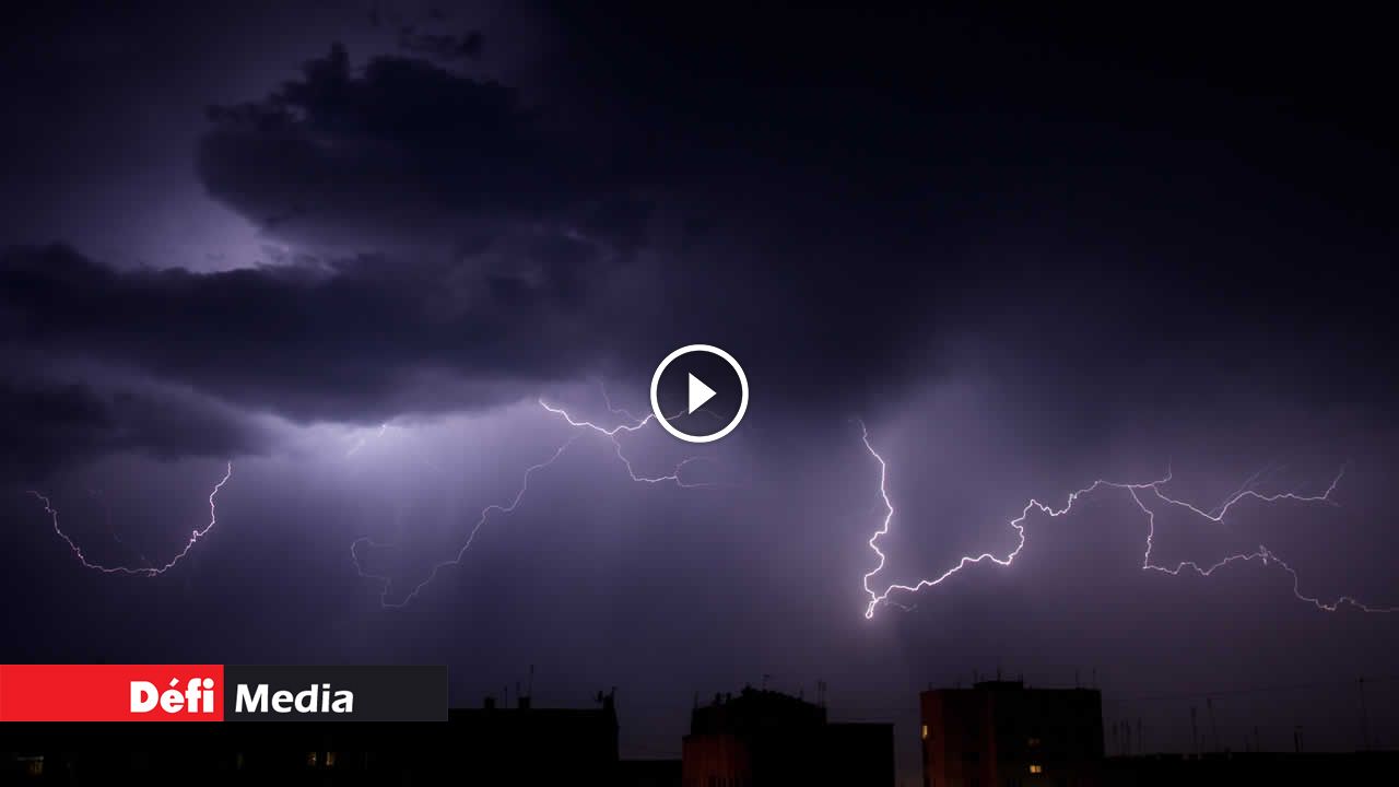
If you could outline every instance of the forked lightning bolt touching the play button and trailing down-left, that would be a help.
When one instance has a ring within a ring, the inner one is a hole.
[[[602,389],[603,401],[607,403],[609,413],[611,413],[614,416],[621,416],[621,417],[624,417],[627,420],[623,422],[623,423],[620,423],[620,424],[617,424],[617,426],[600,426],[600,424],[593,423],[590,420],[575,419],[564,408],[558,408],[555,405],[550,405],[544,399],[539,399],[537,402],[539,402],[540,408],[543,408],[546,412],[551,413],[553,416],[562,417],[564,422],[568,423],[568,426],[571,426],[571,427],[574,427],[576,430],[575,434],[572,437],[569,437],[567,441],[564,441],[564,444],[561,444],[557,450],[554,450],[554,452],[547,459],[544,459],[541,462],[537,462],[534,465],[530,465],[529,468],[525,469],[525,473],[520,478],[520,486],[515,492],[515,496],[509,500],[509,503],[504,503],[504,504],[502,503],[492,503],[492,504],[487,506],[485,508],[481,508],[481,513],[477,515],[476,522],[471,525],[470,531],[467,531],[467,536],[462,542],[460,549],[457,549],[456,553],[452,555],[450,557],[446,557],[443,560],[439,560],[439,562],[434,563],[432,569],[428,571],[428,576],[422,581],[420,581],[417,585],[414,585],[413,590],[410,590],[407,592],[407,595],[404,595],[402,599],[392,601],[389,598],[392,595],[392,591],[393,591],[393,578],[392,577],[386,577],[386,576],[382,576],[382,574],[368,573],[368,571],[364,570],[364,566],[360,562],[360,548],[361,546],[371,546],[371,548],[381,549],[381,548],[389,548],[389,546],[393,546],[393,545],[375,542],[375,541],[369,539],[368,536],[355,539],[350,545],[350,559],[354,562],[355,571],[358,571],[358,574],[361,577],[364,577],[367,580],[378,581],[381,584],[381,588],[379,588],[379,606],[382,606],[385,609],[402,609],[402,608],[407,606],[409,604],[413,602],[414,598],[417,598],[422,592],[422,588],[425,588],[428,584],[432,583],[434,578],[436,578],[438,573],[442,571],[442,569],[446,569],[449,566],[459,566],[462,563],[462,559],[466,557],[466,552],[471,548],[471,543],[476,541],[477,534],[480,534],[481,528],[485,525],[487,520],[490,520],[492,514],[501,515],[501,514],[511,514],[511,513],[513,513],[515,508],[518,508],[520,506],[520,503],[525,500],[525,496],[529,492],[530,479],[534,476],[534,473],[537,473],[537,472],[540,472],[540,471],[551,466],[554,462],[557,462],[560,459],[560,457],[564,455],[564,452],[574,443],[576,443],[579,438],[588,436],[589,433],[606,437],[607,441],[611,443],[613,454],[617,457],[618,461],[621,461],[623,468],[625,468],[625,471],[627,471],[627,476],[632,482],[646,483],[646,485],[673,483],[673,485],[676,485],[676,486],[679,486],[681,489],[705,489],[705,487],[716,486],[713,483],[687,482],[687,480],[684,480],[681,478],[684,469],[687,466],[690,466],[691,464],[704,459],[702,457],[687,457],[686,459],[681,459],[679,464],[676,464],[676,466],[672,468],[672,471],[669,473],[665,473],[665,475],[644,475],[644,473],[638,473],[635,465],[632,464],[632,461],[623,451],[621,436],[624,436],[624,434],[634,434],[637,431],[641,431],[651,422],[653,422],[656,419],[656,416],[655,416],[655,413],[648,413],[645,417],[639,417],[638,419],[635,415],[630,413],[628,410],[624,410],[624,409],[620,409],[620,408],[614,408],[613,403],[611,403],[611,398],[607,395],[607,388],[604,385],[602,385],[602,382],[599,382],[599,388]]]

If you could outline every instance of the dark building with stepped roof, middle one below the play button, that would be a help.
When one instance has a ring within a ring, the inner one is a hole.
[[[893,724],[832,724],[825,707],[744,688],[690,716],[681,753],[686,787],[894,783]]]

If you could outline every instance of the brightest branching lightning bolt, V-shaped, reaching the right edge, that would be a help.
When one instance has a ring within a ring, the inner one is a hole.
[[[1233,508],[1237,503],[1240,503],[1242,500],[1258,500],[1260,503],[1279,503],[1279,501],[1290,500],[1290,501],[1297,501],[1297,503],[1329,503],[1329,504],[1335,504],[1335,501],[1332,500],[1332,494],[1336,492],[1336,486],[1340,483],[1340,479],[1346,475],[1346,468],[1344,466],[1342,466],[1336,472],[1336,476],[1332,478],[1330,485],[1321,494],[1298,494],[1295,492],[1284,492],[1284,493],[1276,493],[1276,494],[1263,494],[1263,493],[1259,493],[1259,492],[1256,492],[1254,489],[1254,485],[1256,485],[1262,476],[1267,475],[1266,472],[1260,471],[1258,473],[1254,473],[1254,476],[1249,478],[1244,483],[1244,486],[1241,486],[1237,492],[1234,492],[1233,494],[1230,494],[1223,503],[1220,503],[1219,506],[1216,506],[1214,508],[1212,508],[1209,511],[1206,511],[1206,510],[1203,510],[1203,508],[1200,508],[1200,507],[1198,507],[1198,506],[1195,506],[1192,503],[1188,503],[1185,500],[1179,500],[1179,499],[1171,497],[1165,492],[1163,492],[1161,487],[1165,486],[1165,485],[1168,485],[1171,482],[1171,471],[1170,471],[1170,468],[1167,469],[1165,476],[1163,476],[1160,479],[1156,479],[1156,480],[1151,480],[1151,482],[1143,482],[1143,483],[1123,483],[1123,482],[1114,482],[1114,480],[1107,480],[1107,479],[1098,479],[1098,480],[1094,480],[1091,485],[1088,485],[1088,486],[1086,486],[1083,489],[1072,492],[1069,494],[1067,500],[1065,501],[1063,507],[1060,507],[1060,508],[1055,508],[1052,506],[1046,506],[1046,504],[1044,504],[1044,503],[1041,503],[1038,500],[1034,500],[1034,499],[1031,499],[1028,503],[1025,503],[1025,507],[1020,511],[1020,515],[1016,517],[1014,520],[1010,520],[1007,522],[1016,531],[1017,543],[1016,543],[1016,548],[1011,549],[1009,553],[1006,553],[1004,557],[992,555],[989,552],[983,552],[981,555],[965,555],[956,564],[953,564],[951,569],[947,569],[946,571],[943,571],[942,574],[939,574],[936,577],[919,580],[918,583],[915,583],[912,585],[891,584],[891,585],[887,585],[883,591],[876,591],[873,587],[870,587],[870,580],[884,569],[884,564],[887,562],[887,556],[879,548],[879,541],[884,535],[888,535],[890,527],[891,527],[891,524],[894,521],[895,510],[894,510],[894,503],[893,503],[893,500],[890,499],[890,494],[888,494],[888,462],[884,461],[884,457],[881,457],[880,452],[876,451],[874,445],[870,443],[869,429],[866,429],[865,422],[858,422],[858,423],[860,424],[860,440],[865,443],[865,450],[869,451],[870,457],[873,457],[876,462],[879,462],[879,468],[880,468],[879,490],[880,490],[880,499],[884,501],[884,520],[880,524],[879,529],[874,531],[874,535],[872,535],[869,538],[869,541],[867,541],[870,549],[874,550],[874,555],[879,556],[879,562],[876,563],[876,566],[874,566],[874,569],[872,571],[869,571],[867,574],[865,574],[865,580],[863,580],[865,594],[869,597],[869,605],[865,608],[865,618],[866,619],[874,616],[874,608],[879,606],[880,604],[894,604],[894,605],[898,606],[897,602],[894,602],[894,601],[890,599],[890,594],[894,594],[894,592],[915,594],[915,592],[918,592],[918,591],[921,591],[923,588],[937,587],[937,585],[943,584],[944,581],[947,581],[949,578],[951,578],[958,571],[961,571],[963,569],[965,569],[968,566],[974,566],[977,563],[988,563],[989,562],[989,563],[995,563],[996,566],[1010,566],[1011,563],[1014,563],[1016,557],[1025,548],[1025,520],[1030,517],[1031,513],[1039,511],[1041,514],[1045,514],[1048,517],[1062,517],[1062,515],[1065,515],[1065,514],[1067,514],[1069,511],[1073,510],[1073,504],[1080,497],[1084,497],[1087,494],[1093,494],[1094,492],[1098,492],[1101,489],[1116,489],[1116,490],[1126,492],[1132,497],[1133,503],[1136,503],[1137,508],[1140,508],[1142,513],[1146,514],[1147,531],[1146,531],[1146,550],[1142,555],[1142,570],[1143,571],[1160,571],[1160,573],[1171,574],[1172,577],[1175,577],[1175,576],[1179,576],[1186,569],[1189,569],[1189,570],[1195,571],[1196,574],[1199,574],[1202,577],[1209,577],[1216,570],[1223,569],[1224,566],[1228,566],[1231,563],[1240,563],[1240,562],[1245,562],[1247,563],[1247,562],[1251,562],[1251,560],[1258,560],[1258,562],[1260,562],[1265,566],[1269,564],[1269,563],[1276,563],[1279,567],[1281,567],[1284,571],[1287,571],[1291,576],[1291,578],[1293,578],[1293,595],[1298,601],[1304,601],[1307,604],[1311,604],[1316,609],[1321,609],[1321,611],[1325,611],[1325,612],[1336,612],[1337,609],[1340,609],[1340,606],[1349,605],[1349,606],[1353,606],[1353,608],[1356,608],[1356,609],[1358,609],[1361,612],[1399,612],[1399,606],[1370,606],[1367,604],[1363,604],[1363,602],[1357,601],[1354,597],[1350,597],[1350,595],[1342,595],[1342,597],[1336,598],[1336,601],[1332,601],[1332,602],[1325,602],[1319,597],[1307,595],[1307,594],[1304,594],[1301,591],[1301,577],[1298,576],[1297,570],[1293,569],[1290,564],[1287,564],[1274,552],[1272,552],[1270,549],[1267,549],[1266,546],[1262,546],[1262,545],[1259,545],[1259,548],[1256,550],[1254,550],[1254,552],[1244,552],[1244,553],[1238,553],[1238,555],[1230,555],[1230,556],[1224,557],[1223,560],[1219,560],[1217,563],[1213,563],[1210,566],[1200,566],[1199,563],[1196,563],[1193,560],[1182,560],[1182,562],[1177,563],[1174,567],[1171,567],[1171,566],[1161,566],[1161,564],[1156,564],[1156,563],[1151,562],[1153,539],[1156,538],[1156,511],[1146,504],[1146,501],[1143,500],[1143,496],[1146,496],[1146,497],[1156,497],[1160,503],[1164,503],[1167,506],[1175,506],[1175,507],[1179,507],[1179,508],[1184,508],[1184,510],[1189,511],[1191,514],[1193,514],[1196,517],[1205,518],[1205,520],[1207,520],[1210,522],[1223,524],[1224,517],[1228,514],[1230,508]]]

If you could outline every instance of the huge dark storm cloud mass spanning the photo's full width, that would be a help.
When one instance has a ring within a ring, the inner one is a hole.
[[[267,246],[276,266],[118,272],[15,249],[0,270],[14,336],[362,423],[641,378],[695,340],[792,412],[865,410],[956,370],[1009,381],[1027,410],[1392,392],[1374,371],[1388,241],[1262,188],[1228,146],[1174,136],[1200,109],[1269,119],[1248,106],[1151,76],[1119,95],[1126,77],[1074,80],[1072,62],[1027,71],[1016,31],[968,43],[975,25],[926,14],[813,14],[790,41],[758,14],[725,57],[713,20],[562,18],[550,63],[574,67],[530,104],[425,57],[357,67],[333,46],[264,98],[211,108],[199,178],[290,244]],[[830,57],[839,31],[867,56]],[[876,32],[887,46],[867,50]],[[929,76],[958,63],[956,84]],[[1034,112],[1007,123],[990,94]],[[1101,123],[1109,98],[1132,134]]]

